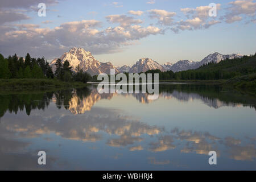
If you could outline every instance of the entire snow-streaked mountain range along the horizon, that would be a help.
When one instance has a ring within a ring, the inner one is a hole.
[[[75,71],[77,65],[80,64],[80,67],[83,71],[90,73],[90,75],[98,75],[100,73],[110,74],[110,69],[115,69],[115,73],[140,73],[146,72],[150,69],[160,69],[160,71],[185,71],[188,69],[196,69],[201,65],[208,63],[219,63],[221,60],[234,59],[238,57],[242,57],[240,54],[232,54],[232,55],[222,55],[221,53],[214,52],[206,57],[204,57],[201,61],[189,61],[189,60],[180,60],[175,64],[165,63],[159,64],[157,61],[154,61],[149,58],[141,58],[139,59],[132,67],[128,65],[123,65],[122,67],[115,67],[112,63],[102,63],[96,60],[92,53],[89,51],[85,51],[83,48],[73,47],[69,50],[69,52],[65,52],[61,57],[61,61],[68,60],[70,65],[72,66],[72,70]],[[55,63],[57,59],[52,60],[51,67],[53,71],[55,70]]]

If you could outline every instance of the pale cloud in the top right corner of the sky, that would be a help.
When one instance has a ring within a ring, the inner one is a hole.
[[[233,23],[242,20],[242,16],[246,15],[253,17],[256,12],[256,2],[253,0],[238,0],[229,2],[228,11],[226,12],[224,18],[226,23]]]

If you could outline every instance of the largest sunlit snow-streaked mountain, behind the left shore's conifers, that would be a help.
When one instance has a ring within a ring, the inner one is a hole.
[[[76,48],[73,47],[69,50],[69,52],[65,52],[61,57],[60,60],[64,63],[65,60],[69,61],[69,64],[72,66],[72,70],[75,71],[77,65],[80,64],[80,67],[83,71],[88,72],[90,75],[98,75],[100,73],[107,73],[110,74],[110,69],[115,69],[115,72],[118,73],[119,71],[115,68],[112,63],[101,63],[100,61],[96,60],[92,53],[89,51],[85,51],[83,48]],[[51,62],[51,67],[53,71],[55,71],[55,63],[57,59],[54,59]]]

